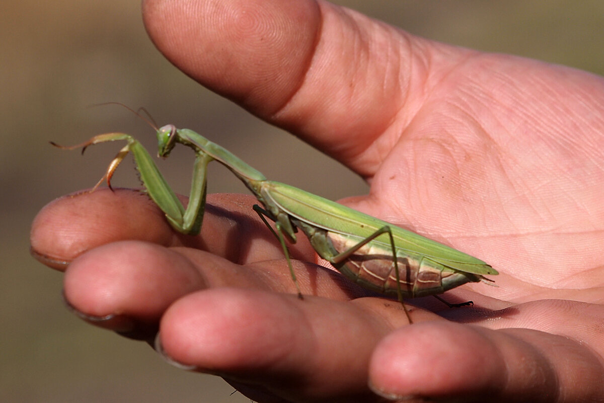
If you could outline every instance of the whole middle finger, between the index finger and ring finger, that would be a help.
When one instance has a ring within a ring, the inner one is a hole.
[[[77,315],[97,326],[130,337],[154,337],[165,309],[199,289],[228,285],[295,292],[284,263],[274,262],[242,266],[190,248],[164,248],[133,240],[112,242],[69,265],[63,295]],[[329,283],[329,275],[313,266],[295,265],[301,286],[308,293],[312,291],[311,278],[320,280],[323,289]],[[347,299],[343,290],[336,297]]]

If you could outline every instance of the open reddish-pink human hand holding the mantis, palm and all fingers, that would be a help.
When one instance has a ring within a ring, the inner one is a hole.
[[[251,196],[208,197],[187,237],[140,193],[100,190],[51,202],[31,231],[77,314],[150,343],[159,329],[168,359],[259,402],[604,401],[602,77],[326,2],[149,0],[143,16],[194,80],[367,179],[344,204],[501,275],[445,294],[473,308],[410,300],[408,326],[302,237],[298,300]]]

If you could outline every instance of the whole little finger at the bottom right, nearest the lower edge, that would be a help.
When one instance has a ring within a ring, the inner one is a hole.
[[[602,396],[602,365],[575,341],[528,329],[420,323],[371,357],[373,390],[391,400],[574,402]]]

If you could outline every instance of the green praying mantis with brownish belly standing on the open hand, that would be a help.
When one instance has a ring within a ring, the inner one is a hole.
[[[137,112],[135,114],[141,117]],[[410,323],[413,321],[403,298],[437,297],[435,294],[464,283],[492,282],[484,275],[498,274],[482,260],[442,243],[291,185],[269,181],[224,147],[190,129],[177,129],[172,124],[158,129],[150,121],[147,122],[156,130],[159,157],[169,156],[177,143],[190,147],[195,153],[187,208],[167,184],[147,150],[131,135],[114,132],[97,135],[76,146],[51,144],[62,149],[82,147],[83,153],[92,144],[125,140],[126,146],[117,153],[92,191],[104,180],[111,188],[112,175],[127,153],[131,152],[150,198],[161,208],[175,230],[190,235],[198,234],[202,226],[207,166],[211,161],[223,164],[263,205],[254,205],[253,209],[281,244],[300,298],[302,293],[286,246],[286,239],[291,243],[296,242],[298,229],[308,237],[316,253],[344,276],[371,291],[396,295]],[[275,229],[267,219],[274,222]],[[439,300],[453,306],[442,298]],[[470,304],[471,301],[456,306]]]

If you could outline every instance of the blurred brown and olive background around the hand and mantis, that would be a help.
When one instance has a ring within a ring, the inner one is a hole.
[[[336,3],[449,44],[604,73],[600,0]],[[82,158],[48,141],[75,144],[123,131],[154,149],[153,132],[129,112],[87,108],[117,101],[144,106],[159,124],[206,134],[268,178],[318,195],[359,195],[366,185],[170,65],[147,39],[138,1],[4,0],[0,21],[0,401],[249,402],[230,396],[233,388],[222,379],[169,366],[147,345],[89,326],[65,309],[61,274],[29,255],[31,220],[52,199],[94,185],[118,145],[92,147]],[[161,169],[186,194],[191,154],[176,155]],[[138,187],[130,167],[118,170],[115,185]],[[210,192],[246,192],[225,170],[212,169]],[[316,180],[327,170],[333,181]]]

